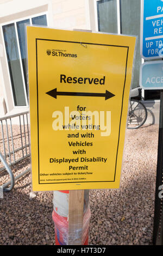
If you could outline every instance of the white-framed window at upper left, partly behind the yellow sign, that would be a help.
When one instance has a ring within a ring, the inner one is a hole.
[[[46,15],[32,17],[2,26],[15,106],[28,105],[26,35],[24,24],[47,26]]]

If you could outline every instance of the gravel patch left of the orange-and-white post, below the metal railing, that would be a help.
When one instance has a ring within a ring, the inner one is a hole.
[[[0,245],[54,245],[52,192],[30,199],[30,175],[0,199]],[[26,181],[26,182],[25,182]]]

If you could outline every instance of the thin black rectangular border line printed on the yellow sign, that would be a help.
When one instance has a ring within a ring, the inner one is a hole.
[[[118,144],[117,144],[117,154],[116,154],[116,163],[115,163],[115,175],[114,175],[114,180],[104,180],[104,181],[72,181],[72,182],[70,181],[70,182],[46,182],[46,183],[40,183],[40,159],[39,159],[39,97],[38,97],[38,69],[37,69],[37,40],[43,40],[43,41],[57,41],[57,42],[70,42],[70,43],[73,43],[73,44],[103,45],[103,46],[112,46],[112,47],[124,47],[124,48],[127,48],[126,70],[125,70],[124,86],[123,86],[123,94],[122,94],[122,107],[121,107],[121,117],[120,117],[119,133],[118,133]],[[122,118],[122,110],[123,110],[123,96],[124,96],[124,88],[125,88],[125,85],[126,85],[128,52],[129,52],[129,46],[93,44],[93,43],[91,43],[91,42],[74,42],[74,41],[63,41],[63,40],[53,40],[53,39],[41,39],[41,38],[36,38],[37,139],[38,139],[39,184],[43,185],[43,184],[65,184],[65,183],[87,183],[87,182],[115,182],[118,147],[119,147],[119,143],[120,143],[120,129],[121,129],[121,118]]]

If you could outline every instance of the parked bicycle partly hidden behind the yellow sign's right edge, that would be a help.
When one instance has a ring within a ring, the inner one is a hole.
[[[147,108],[142,103],[141,88],[135,88],[130,93],[127,129],[138,129],[147,120]]]

